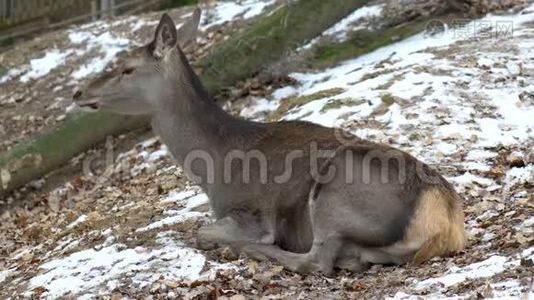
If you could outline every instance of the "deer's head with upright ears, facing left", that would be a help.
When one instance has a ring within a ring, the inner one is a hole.
[[[169,82],[183,72],[178,48],[184,49],[196,39],[200,9],[176,30],[169,15],[161,17],[154,39],[147,45],[126,53],[116,67],[78,90],[74,102],[91,110],[108,110],[120,114],[150,114],[155,101],[168,89]]]

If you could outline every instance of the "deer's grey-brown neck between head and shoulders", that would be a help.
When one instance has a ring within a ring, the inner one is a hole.
[[[228,151],[246,149],[262,135],[264,124],[233,117],[213,101],[181,51],[173,59],[180,72],[169,76],[152,126],[179,164],[186,168],[184,163],[198,157],[213,159],[217,167]],[[203,180],[208,176],[204,163],[193,164],[191,171]]]

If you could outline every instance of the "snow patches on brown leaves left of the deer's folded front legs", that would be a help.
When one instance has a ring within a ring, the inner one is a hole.
[[[195,212],[194,209],[207,203],[205,194],[198,194],[198,189],[191,188],[180,193],[171,193],[161,199],[164,203],[172,202],[184,206],[181,210],[167,210],[165,217],[137,231],[161,229],[187,219],[206,217],[206,213]],[[87,217],[83,215],[67,229],[83,226]],[[174,231],[161,231],[155,237],[155,247],[128,247],[117,243],[113,230],[100,232],[105,240],[102,244],[83,249],[52,259],[39,268],[42,274],[29,281],[29,289],[45,287],[47,292],[42,296],[55,298],[65,293],[91,298],[99,292],[106,293],[120,284],[123,277],[131,278],[131,285],[143,288],[164,276],[166,280],[194,280],[210,277],[218,268],[228,268],[214,262],[207,262],[199,251],[185,246],[180,242]],[[72,240],[64,247],[69,247]],[[56,248],[63,252],[64,248]],[[206,267],[209,266],[209,267]],[[30,296],[28,294],[28,296]]]

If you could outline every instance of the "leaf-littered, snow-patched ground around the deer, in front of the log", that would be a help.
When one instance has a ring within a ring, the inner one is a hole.
[[[362,8],[325,35],[346,39],[380,13]],[[65,183],[36,182],[24,205],[4,210],[0,298],[532,298],[533,76],[530,6],[229,91],[225,108],[244,118],[345,128],[439,170],[464,199],[469,246],[453,257],[325,277],[196,250],[195,232],[213,221],[206,195],[157,138],[114,153],[119,137],[73,160],[84,169]]]

